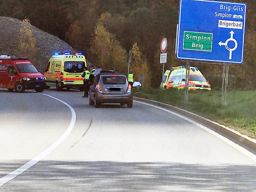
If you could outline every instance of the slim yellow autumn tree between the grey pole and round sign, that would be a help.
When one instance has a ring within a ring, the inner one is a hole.
[[[131,72],[134,73],[134,79],[139,80],[139,75],[145,74],[145,87],[150,87],[150,70],[148,68],[147,60],[142,56],[137,42],[132,46],[132,59],[130,65]]]

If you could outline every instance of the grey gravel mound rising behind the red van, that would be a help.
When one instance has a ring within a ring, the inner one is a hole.
[[[25,43],[29,42],[29,40],[26,39],[26,36],[22,34],[26,33],[26,31],[24,32],[24,30],[22,30],[25,27],[24,25],[26,24],[21,20],[10,17],[0,17],[0,55],[30,56],[22,55],[24,52],[20,50],[20,44],[22,43],[20,39],[22,38],[22,35],[23,39],[25,37]],[[34,53],[33,56],[31,56],[32,58],[29,57],[29,59],[40,72],[45,70],[48,60],[54,52],[75,52],[69,44],[58,37],[50,35],[32,25],[30,25],[30,29],[34,42]],[[30,44],[28,45],[30,46]]]

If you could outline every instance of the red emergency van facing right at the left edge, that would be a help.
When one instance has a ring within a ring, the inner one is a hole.
[[[9,91],[15,89],[16,92],[26,89],[42,92],[45,89],[45,77],[26,57],[0,55],[0,88]]]

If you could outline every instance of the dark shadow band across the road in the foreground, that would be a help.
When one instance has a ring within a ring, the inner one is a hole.
[[[14,170],[17,163],[1,164],[1,173]],[[100,192],[253,192],[256,191],[256,166],[42,161],[0,188],[1,191],[17,189],[20,191],[29,189],[29,191]]]

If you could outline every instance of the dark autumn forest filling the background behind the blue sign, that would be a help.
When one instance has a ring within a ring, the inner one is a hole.
[[[256,88],[256,1],[247,2],[245,65],[231,65],[229,88]],[[170,66],[184,65],[174,54],[179,0],[0,0],[0,15],[20,20],[56,35],[85,53],[94,65],[126,72],[129,50],[135,79],[146,74],[146,85],[158,86],[160,41],[168,39]],[[191,7],[191,11],[193,8]],[[11,52],[12,50],[9,50]],[[221,85],[222,66],[193,63],[215,87]],[[136,70],[139,69],[139,70]]]

